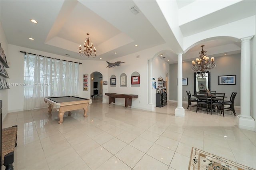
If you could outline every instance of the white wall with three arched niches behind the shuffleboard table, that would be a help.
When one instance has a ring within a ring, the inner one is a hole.
[[[148,83],[148,59],[153,58],[156,53],[164,49],[166,49],[165,45],[158,45],[156,47],[145,49],[110,61],[111,63],[116,61],[122,61],[124,63],[122,63],[119,67],[108,68],[109,77],[107,80],[103,79],[103,81],[108,81],[108,92],[138,95],[138,98],[132,99],[133,108],[149,111],[154,110],[154,107],[152,108],[152,106],[148,104],[148,88],[152,89],[152,81],[150,81],[151,83]],[[131,75],[135,71],[140,73],[140,87],[131,87]],[[162,59],[155,57],[153,59],[153,73],[154,72],[154,77],[162,76],[163,78],[165,78],[166,73],[169,73],[169,65],[165,63]],[[120,75],[122,73],[125,73],[127,76],[127,87],[120,87]],[[111,75],[116,75],[116,87],[110,87],[109,82]],[[155,89],[152,89],[151,92],[152,96],[156,95]],[[106,101],[108,101],[107,96],[103,95],[103,97]],[[155,103],[155,100],[153,101],[153,103]],[[116,99],[116,104],[124,105],[124,99]]]

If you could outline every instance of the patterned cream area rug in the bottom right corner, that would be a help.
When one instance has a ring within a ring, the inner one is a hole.
[[[202,150],[192,148],[188,170],[255,170],[247,166],[232,162],[204,152]]]

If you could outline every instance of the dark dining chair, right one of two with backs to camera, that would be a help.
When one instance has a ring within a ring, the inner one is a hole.
[[[211,115],[212,111],[217,111],[217,113],[223,114],[224,117],[224,98],[225,93],[215,93],[213,95],[210,95],[210,109],[211,109]]]

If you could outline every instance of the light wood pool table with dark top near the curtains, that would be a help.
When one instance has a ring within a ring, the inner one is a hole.
[[[87,117],[87,107],[90,99],[84,99],[81,97],[74,96],[64,96],[64,97],[45,97],[44,102],[48,104],[49,113],[52,112],[53,109],[56,109],[59,117],[58,123],[63,122],[63,115],[66,111],[68,111],[68,116],[71,116],[70,111],[74,111],[77,109],[84,109],[84,117]]]

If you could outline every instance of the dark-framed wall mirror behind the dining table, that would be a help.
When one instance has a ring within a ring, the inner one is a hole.
[[[194,73],[194,94],[199,90],[211,91],[211,73],[210,71]]]

